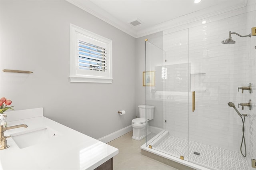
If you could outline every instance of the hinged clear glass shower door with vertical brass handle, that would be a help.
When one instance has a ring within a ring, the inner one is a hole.
[[[238,22],[237,18],[241,18],[240,28],[230,25]],[[232,102],[241,114],[250,113],[247,107],[238,108],[238,103],[248,103],[250,98],[246,96],[252,97],[247,91],[238,92],[238,87],[250,83],[246,81],[248,39],[234,35],[236,44],[221,43],[230,30],[246,35],[244,18],[246,14],[204,22],[188,31],[190,95],[196,93],[196,110],[188,113],[189,161],[211,169],[250,169],[240,153],[241,117],[228,106]],[[222,28],[212,27],[218,25]]]

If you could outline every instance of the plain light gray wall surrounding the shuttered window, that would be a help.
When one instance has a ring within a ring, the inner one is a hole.
[[[113,41],[112,83],[70,83],[70,23]],[[34,72],[0,72],[0,96],[15,110],[43,107],[44,116],[94,138],[131,125],[135,38],[64,0],[0,1],[0,26],[0,69]]]

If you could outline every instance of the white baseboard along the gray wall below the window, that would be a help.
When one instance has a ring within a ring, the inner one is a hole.
[[[132,131],[132,130],[133,130],[132,125],[130,125],[128,127],[117,130],[116,132],[113,132],[106,136],[103,136],[102,138],[98,138],[98,140],[100,140],[101,142],[104,142],[104,143],[108,143],[108,142],[110,142],[110,141]]]

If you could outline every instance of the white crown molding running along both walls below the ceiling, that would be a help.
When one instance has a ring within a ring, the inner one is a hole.
[[[200,21],[205,18],[209,18],[212,16],[217,16],[217,15],[220,15],[223,13],[230,12],[232,10],[238,10],[238,12],[239,12],[239,8],[245,7],[248,2],[248,0],[244,0],[244,3],[236,5],[236,6],[230,6],[229,8],[227,8],[226,6],[218,6],[218,7],[212,6],[210,8],[205,8],[203,10],[199,10],[196,12],[192,12],[190,14],[186,14],[184,16],[180,16],[178,18],[174,18],[172,20],[163,22],[161,24],[152,26],[150,28],[140,29],[140,30],[138,30],[138,28],[137,28],[137,30],[136,30],[133,27],[128,26],[127,23],[121,22],[120,20],[118,20],[114,16],[110,15],[108,12],[106,12],[103,9],[97,10],[97,11],[93,10],[93,9],[98,9],[99,7],[96,4],[94,4],[93,2],[90,2],[90,0],[86,1],[86,5],[84,3],[82,3],[83,1],[80,1],[80,0],[66,0],[66,1],[81,8],[82,10],[92,14],[93,16],[96,16],[97,18],[118,28],[119,30],[125,32],[126,34],[129,34],[130,36],[132,36],[134,38],[140,38],[143,36],[154,34],[156,32],[164,31],[164,30],[167,30],[170,28],[175,28],[177,26],[182,26],[184,24],[189,24],[191,22]],[[216,11],[216,8],[218,8],[218,11]],[[227,17],[227,16],[223,16],[223,17]]]

